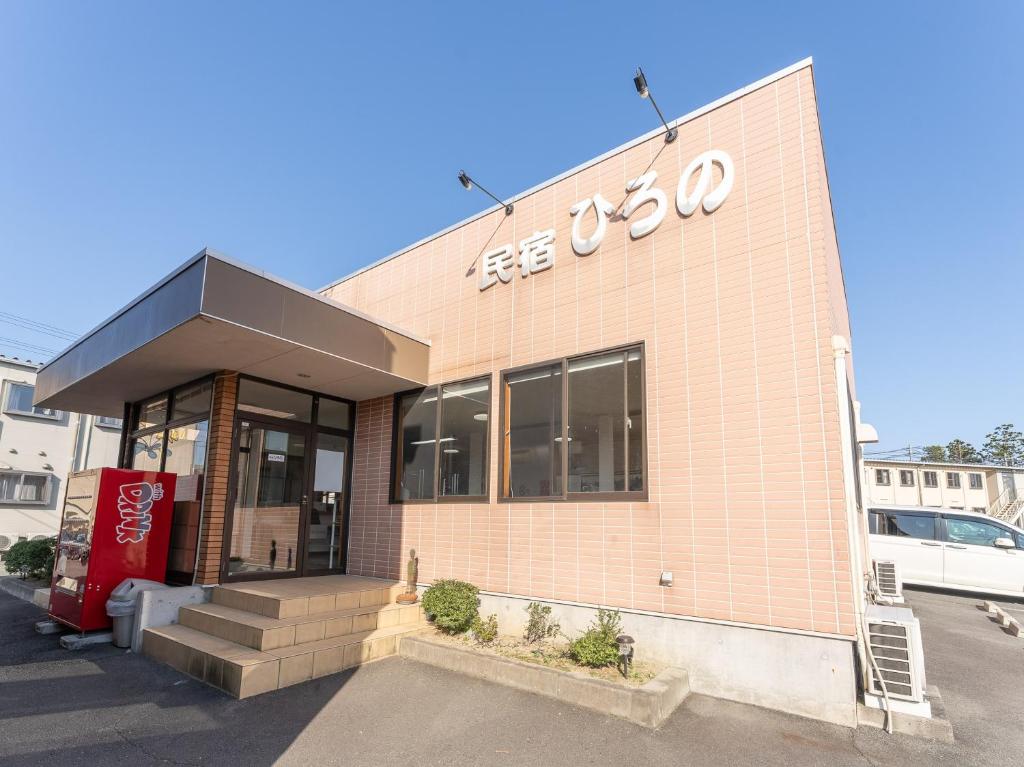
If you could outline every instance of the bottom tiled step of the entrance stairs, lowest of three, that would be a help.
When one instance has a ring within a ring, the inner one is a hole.
[[[142,651],[234,697],[251,697],[393,655],[422,624],[393,626],[262,651],[176,624],[146,629]]]

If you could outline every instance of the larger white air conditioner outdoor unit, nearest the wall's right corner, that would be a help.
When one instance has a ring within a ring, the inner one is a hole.
[[[882,673],[889,697],[915,704],[925,700],[925,651],[921,624],[909,607],[870,604],[866,610],[867,641]],[[868,692],[882,696],[874,667],[868,674]]]

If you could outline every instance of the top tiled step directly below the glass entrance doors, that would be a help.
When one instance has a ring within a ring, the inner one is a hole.
[[[287,619],[390,604],[404,591],[398,581],[321,576],[228,584],[213,589],[213,603]]]

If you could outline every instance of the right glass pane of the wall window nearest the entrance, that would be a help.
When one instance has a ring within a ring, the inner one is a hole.
[[[489,409],[489,379],[441,386],[439,496],[486,495]]]

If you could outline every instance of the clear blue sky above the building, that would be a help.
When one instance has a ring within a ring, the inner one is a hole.
[[[672,118],[813,55],[865,419],[1024,427],[1024,4],[399,5],[0,1],[0,312],[204,246],[317,288],[654,127],[638,63]]]

